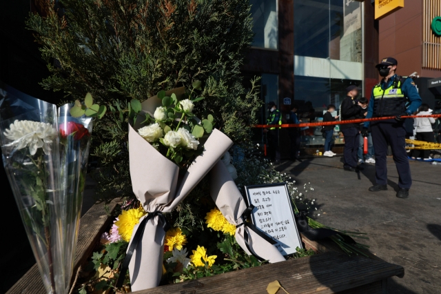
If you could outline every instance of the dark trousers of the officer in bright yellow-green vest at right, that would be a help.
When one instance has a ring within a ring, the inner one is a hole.
[[[371,131],[375,146],[376,184],[387,185],[387,144],[389,143],[398,171],[398,186],[410,188],[411,168],[406,153],[406,130],[403,122],[395,120],[371,122]]]

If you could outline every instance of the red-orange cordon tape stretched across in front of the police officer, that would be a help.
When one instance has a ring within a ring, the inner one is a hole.
[[[423,117],[441,117],[440,115],[402,115],[402,119],[411,118],[423,118]],[[396,117],[372,117],[370,119],[349,119],[345,121],[320,121],[314,123],[301,123],[301,124],[256,124],[254,128],[305,128],[306,126],[336,126],[338,124],[361,124],[366,121],[384,121],[388,119],[395,119]]]

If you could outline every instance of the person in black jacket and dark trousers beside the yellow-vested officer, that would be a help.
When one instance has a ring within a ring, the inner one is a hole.
[[[342,121],[350,119],[360,119],[365,117],[366,111],[360,105],[356,97],[358,96],[358,88],[351,85],[346,89],[347,97],[342,101],[341,116]],[[345,170],[358,171],[362,168],[357,164],[357,151],[360,142],[360,124],[342,124],[340,126],[343,135],[345,136]]]

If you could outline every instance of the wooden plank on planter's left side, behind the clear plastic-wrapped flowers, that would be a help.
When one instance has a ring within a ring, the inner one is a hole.
[[[108,205],[110,211],[113,211],[117,202],[114,200]],[[80,228],[78,234],[78,242],[76,244],[76,254],[74,261],[74,271],[92,254],[96,242],[99,242],[99,236],[104,233],[105,229],[112,222],[112,218],[108,217],[104,210],[104,203],[95,204],[88,210],[80,220]],[[6,294],[45,294],[45,288],[41,281],[41,276],[37,264],[25,273],[21,279],[6,292]]]

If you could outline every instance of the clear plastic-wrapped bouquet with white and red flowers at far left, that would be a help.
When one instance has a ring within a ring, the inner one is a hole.
[[[92,119],[9,87],[0,96],[3,165],[43,284],[47,293],[68,293]]]

